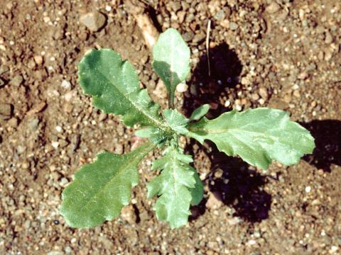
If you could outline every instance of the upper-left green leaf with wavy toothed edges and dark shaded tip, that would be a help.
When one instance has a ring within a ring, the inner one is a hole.
[[[78,66],[80,85],[104,113],[122,115],[124,124],[163,127],[158,104],[139,88],[134,67],[114,50],[92,50]]]

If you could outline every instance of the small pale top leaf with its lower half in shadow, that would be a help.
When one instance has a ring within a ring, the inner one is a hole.
[[[190,73],[190,48],[174,28],[161,33],[154,45],[153,68],[166,85],[170,107],[173,108],[175,88]]]

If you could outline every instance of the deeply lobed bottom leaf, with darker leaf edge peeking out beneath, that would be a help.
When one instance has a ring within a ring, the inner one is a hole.
[[[179,149],[168,147],[165,156],[153,162],[152,169],[161,174],[148,183],[148,198],[160,196],[154,210],[158,220],[166,220],[171,229],[188,222],[190,205],[202,200],[203,186],[195,169],[189,165],[192,157]]]

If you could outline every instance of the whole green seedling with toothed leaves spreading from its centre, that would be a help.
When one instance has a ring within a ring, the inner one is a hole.
[[[208,105],[197,108],[190,118],[175,110],[175,88],[190,72],[190,49],[177,30],[170,28],[158,38],[153,47],[153,69],[166,85],[169,109],[151,101],[148,91],[140,89],[132,65],[114,50],[92,50],[81,60],[80,85],[92,96],[94,107],[121,115],[125,125],[138,126],[141,129],[136,135],[149,141],[123,155],[103,152],[76,172],[63,191],[60,206],[70,227],[94,227],[117,217],[129,204],[131,188],[139,183],[139,162],[156,147],[165,149],[163,157],[152,164],[151,169],[161,174],[148,183],[148,198],[158,196],[153,206],[158,220],[166,220],[172,229],[185,225],[190,205],[202,200],[203,186],[190,165],[192,157],[178,144],[181,135],[201,144],[211,140],[221,152],[261,169],[267,169],[273,159],[284,165],[296,164],[304,154],[313,152],[313,137],[284,111],[230,111],[209,120],[205,118]]]

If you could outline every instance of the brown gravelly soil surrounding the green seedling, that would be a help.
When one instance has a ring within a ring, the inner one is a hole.
[[[93,229],[67,227],[63,187],[98,152],[129,152],[134,130],[100,113],[77,84],[92,47],[117,50],[161,106],[166,91],[125,1],[7,1],[0,10],[0,254],[341,254],[341,2],[142,1],[158,30],[177,28],[193,71],[177,108],[209,118],[258,106],[291,113],[316,140],[295,166],[267,171],[188,140],[205,198],[185,227],[158,222],[140,164],[132,204]],[[80,16],[100,11],[102,28]],[[205,37],[210,33],[210,76]]]

